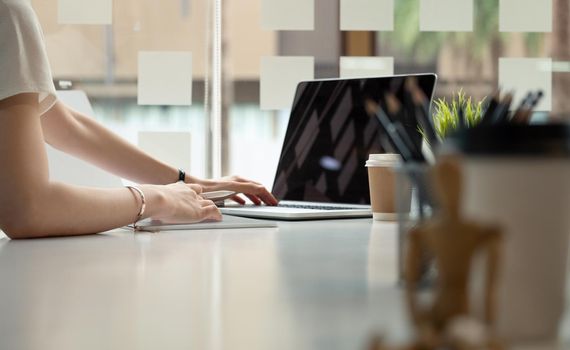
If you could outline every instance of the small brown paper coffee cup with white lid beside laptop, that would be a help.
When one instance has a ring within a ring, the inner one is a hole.
[[[393,153],[371,154],[366,161],[370,185],[370,204],[374,220],[397,220],[397,209],[402,210],[396,208],[396,173],[394,171],[401,162],[402,157]],[[408,196],[407,203],[410,203],[411,187],[405,191],[405,195]],[[409,209],[408,206],[408,212]]]

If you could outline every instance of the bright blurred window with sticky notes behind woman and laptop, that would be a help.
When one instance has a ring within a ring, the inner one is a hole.
[[[197,176],[270,187],[294,86],[313,78],[435,72],[436,97],[540,88],[542,112],[570,115],[568,0],[32,4],[56,87],[85,91],[97,120]]]

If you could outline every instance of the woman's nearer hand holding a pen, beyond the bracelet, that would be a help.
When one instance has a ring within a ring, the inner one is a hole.
[[[200,196],[203,189],[197,184],[182,182],[165,186],[155,186],[162,197],[159,207],[154,210],[153,219],[169,223],[193,223],[204,220],[221,221],[222,214],[214,202]],[[151,190],[151,191],[152,191]]]

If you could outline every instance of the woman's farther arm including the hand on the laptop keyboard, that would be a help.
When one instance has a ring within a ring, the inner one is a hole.
[[[118,176],[151,184],[169,184],[178,180],[177,168],[152,158],[92,118],[61,102],[42,117],[42,129],[50,145]],[[244,193],[255,204],[277,204],[275,197],[263,185],[237,176],[205,180],[188,174],[186,182],[199,184],[204,191]],[[244,203],[237,196],[233,199]]]

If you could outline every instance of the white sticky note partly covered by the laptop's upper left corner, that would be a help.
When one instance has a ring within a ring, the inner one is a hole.
[[[314,57],[271,56],[261,58],[260,107],[291,108],[297,84],[315,76]]]

